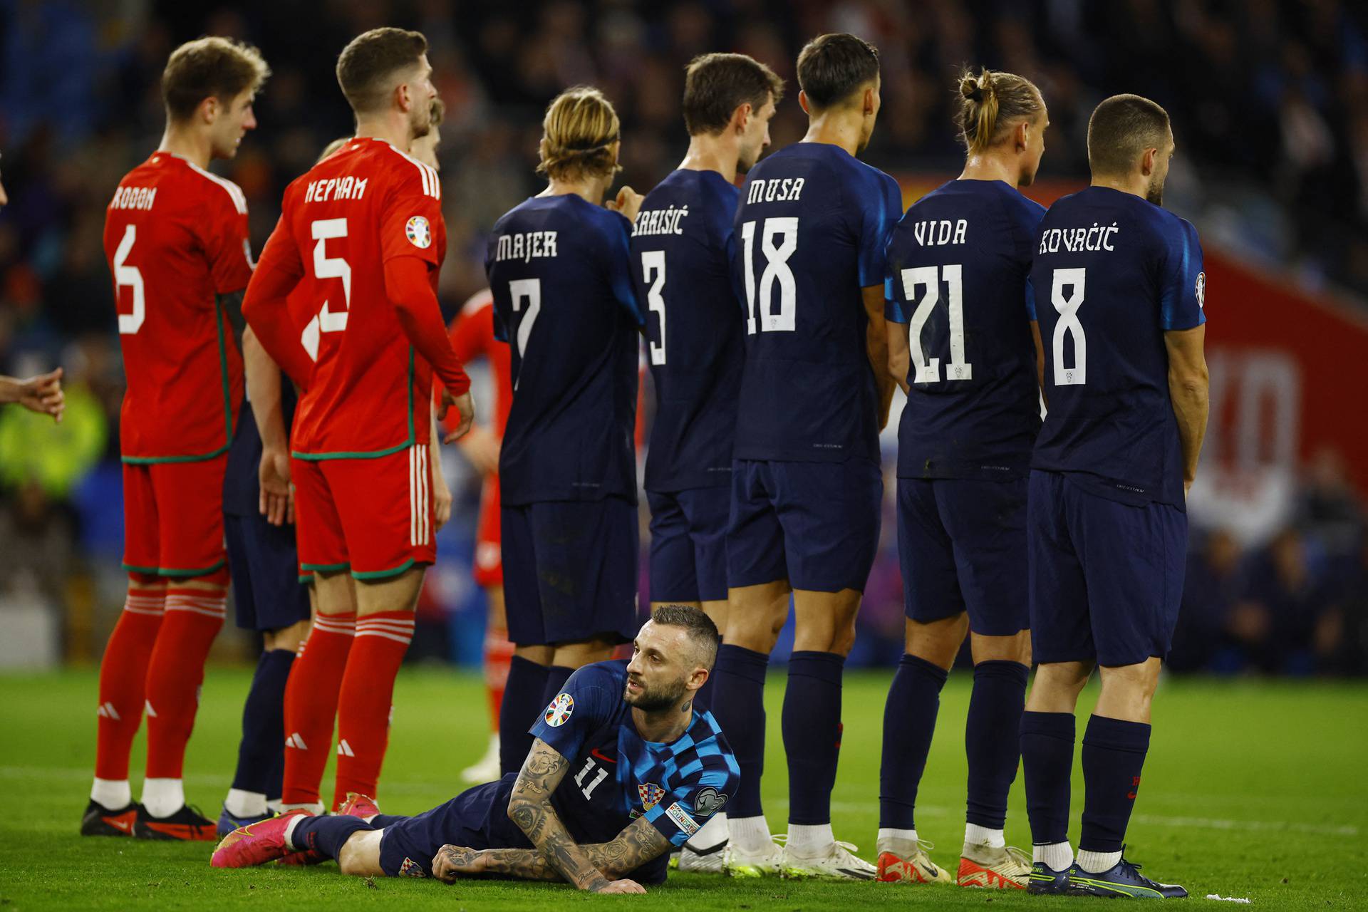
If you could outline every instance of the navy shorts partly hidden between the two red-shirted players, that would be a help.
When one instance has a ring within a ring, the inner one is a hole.
[[[309,619],[309,587],[300,582],[293,525],[224,514],[223,537],[239,628],[279,630]]]

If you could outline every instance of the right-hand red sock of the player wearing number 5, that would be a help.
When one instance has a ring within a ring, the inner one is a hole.
[[[347,792],[376,797],[390,740],[394,678],[413,640],[412,611],[379,611],[357,618],[338,700],[338,775],[332,807]]]

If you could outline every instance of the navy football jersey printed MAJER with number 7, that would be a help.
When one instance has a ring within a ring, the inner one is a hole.
[[[494,226],[484,271],[494,335],[512,345],[503,503],[636,503],[642,313],[621,215],[576,194],[532,197]]]

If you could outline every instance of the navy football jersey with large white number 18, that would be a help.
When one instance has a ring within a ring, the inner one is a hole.
[[[878,458],[878,387],[860,289],[884,283],[903,213],[891,176],[798,142],[751,168],[736,211],[746,366],[737,459]]]

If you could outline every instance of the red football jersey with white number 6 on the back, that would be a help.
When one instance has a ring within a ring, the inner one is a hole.
[[[228,448],[242,356],[215,295],[252,279],[242,190],[170,152],[130,171],[105,212],[127,391],[124,462],[209,458]]]

